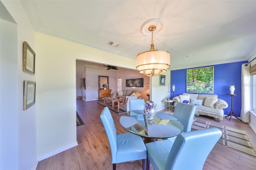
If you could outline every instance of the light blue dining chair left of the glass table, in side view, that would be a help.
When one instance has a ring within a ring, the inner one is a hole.
[[[130,132],[116,134],[116,126],[108,107],[103,109],[100,119],[108,136],[113,170],[116,169],[117,163],[134,160],[142,160],[143,170],[145,170],[147,149],[142,138]]]

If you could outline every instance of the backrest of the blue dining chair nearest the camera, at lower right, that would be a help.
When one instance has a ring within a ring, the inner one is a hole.
[[[207,156],[219,140],[218,128],[180,133],[170,150],[166,170],[202,170]]]

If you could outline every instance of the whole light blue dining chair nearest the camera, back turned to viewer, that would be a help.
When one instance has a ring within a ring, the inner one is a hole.
[[[147,143],[147,170],[149,162],[154,170],[202,170],[221,135],[218,128],[208,128],[180,133],[174,143],[170,140]]]

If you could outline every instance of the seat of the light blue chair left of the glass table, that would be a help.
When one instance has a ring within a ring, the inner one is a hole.
[[[130,132],[118,134],[116,163],[147,158],[147,149],[142,138]]]

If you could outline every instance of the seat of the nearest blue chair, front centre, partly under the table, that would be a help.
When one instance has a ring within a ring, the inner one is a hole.
[[[172,148],[173,142],[170,140],[159,140],[156,142],[146,143],[148,159],[155,170],[164,170]],[[156,164],[156,162],[158,162]]]

